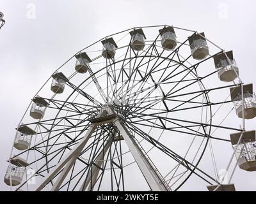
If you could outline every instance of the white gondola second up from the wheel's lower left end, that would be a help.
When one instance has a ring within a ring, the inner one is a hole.
[[[30,147],[31,138],[36,132],[28,126],[21,125],[17,129],[17,134],[15,136],[14,147],[18,150],[26,150]]]

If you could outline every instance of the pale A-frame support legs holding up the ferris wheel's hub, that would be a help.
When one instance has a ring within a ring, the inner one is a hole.
[[[107,111],[109,114],[113,114],[111,108],[104,107],[102,108],[103,111]],[[99,117],[102,115],[102,112],[99,113]],[[114,117],[112,119],[106,119],[99,122],[93,122],[86,132],[86,135],[83,137],[83,139],[77,143],[76,147],[72,149],[67,156],[65,156],[64,159],[60,163],[58,163],[52,171],[43,179],[43,181],[39,184],[38,187],[36,187],[36,191],[42,190],[45,185],[47,185],[62,169],[61,174],[58,176],[58,179],[56,180],[54,186],[52,187],[51,191],[58,191],[59,187],[61,186],[63,180],[65,177],[67,177],[68,172],[76,162],[76,159],[81,154],[81,151],[83,150],[84,146],[88,142],[90,136],[92,136],[93,132],[97,128],[97,126],[100,126],[101,124],[106,123],[114,123],[116,125],[116,128],[120,131],[120,134],[123,136],[125,142],[127,143],[127,146],[131,150],[132,156],[134,157],[136,163],[138,164],[141,173],[145,177],[145,180],[148,183],[148,186],[152,191],[170,191],[170,187],[166,184],[165,180],[161,176],[161,174],[157,171],[154,164],[150,163],[149,157],[147,157],[147,154],[144,154],[139,145],[134,141],[132,136],[130,135],[127,128],[125,128],[124,124],[120,122],[120,120],[117,117]],[[115,134],[113,134],[115,135]],[[99,156],[97,157],[97,163],[95,163],[97,166],[101,166],[101,163],[104,159],[104,154],[108,151],[108,149],[111,147],[111,141],[106,145],[104,150],[100,152]],[[99,175],[99,168],[96,166],[92,167],[92,176],[88,176],[88,179],[84,180],[83,186],[81,186],[80,191],[85,191],[86,187],[88,187],[88,184],[91,184],[94,186],[97,176]]]

